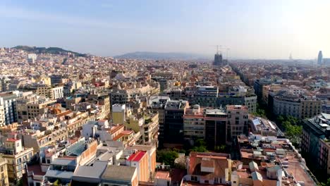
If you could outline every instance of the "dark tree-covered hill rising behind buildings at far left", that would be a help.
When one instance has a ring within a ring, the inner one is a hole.
[[[35,54],[67,54],[70,52],[71,54],[75,54],[75,56],[86,56],[86,54],[80,54],[75,51],[68,51],[65,49],[61,49],[59,47],[37,47],[37,46],[15,46],[13,49],[20,49],[23,51],[35,53]]]

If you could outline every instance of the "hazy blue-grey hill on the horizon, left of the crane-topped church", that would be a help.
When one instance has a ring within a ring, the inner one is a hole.
[[[151,52],[151,51],[136,51],[132,53],[123,54],[120,56],[114,56],[114,58],[137,58],[137,59],[207,59],[207,56],[198,54],[178,53],[178,52]]]

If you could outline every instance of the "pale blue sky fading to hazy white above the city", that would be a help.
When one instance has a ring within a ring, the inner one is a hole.
[[[330,58],[328,0],[1,0],[0,47]]]

